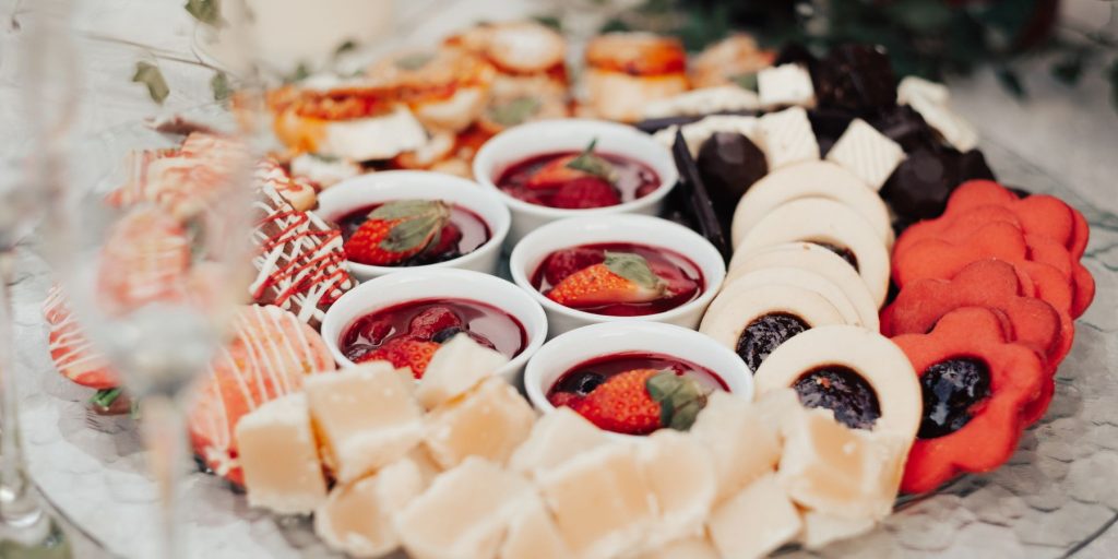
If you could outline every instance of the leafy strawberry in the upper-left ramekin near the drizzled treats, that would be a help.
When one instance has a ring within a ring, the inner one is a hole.
[[[397,200],[369,212],[345,241],[345,257],[371,266],[392,266],[424,252],[451,219],[440,200]]]

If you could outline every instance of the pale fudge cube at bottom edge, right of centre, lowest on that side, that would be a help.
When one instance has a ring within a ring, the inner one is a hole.
[[[765,557],[799,533],[799,512],[773,474],[761,476],[711,513],[707,530],[722,557]]]

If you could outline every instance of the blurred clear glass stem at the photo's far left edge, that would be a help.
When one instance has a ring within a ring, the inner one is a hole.
[[[34,524],[42,517],[31,492],[20,440],[19,391],[12,343],[11,281],[15,248],[0,248],[0,524]]]

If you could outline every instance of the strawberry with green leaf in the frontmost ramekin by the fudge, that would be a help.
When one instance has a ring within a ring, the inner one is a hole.
[[[694,380],[670,370],[634,369],[606,379],[571,408],[598,427],[647,435],[663,427],[688,430],[707,404]]]

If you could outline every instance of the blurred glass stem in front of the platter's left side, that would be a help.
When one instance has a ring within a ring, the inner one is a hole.
[[[179,537],[179,480],[186,445],[186,423],[182,409],[171,397],[153,395],[143,399],[141,424],[149,449],[149,468],[159,491],[161,541],[159,557],[184,557]]]

